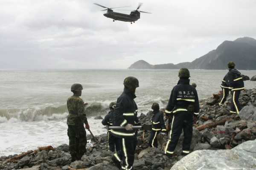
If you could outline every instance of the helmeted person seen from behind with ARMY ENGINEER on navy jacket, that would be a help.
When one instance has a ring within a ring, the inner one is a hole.
[[[165,113],[173,114],[169,140],[165,154],[172,157],[180,134],[184,133],[182,155],[189,154],[193,133],[193,116],[199,114],[198,94],[194,86],[189,85],[189,70],[181,68],[179,71],[180,84],[174,86],[169,98]]]

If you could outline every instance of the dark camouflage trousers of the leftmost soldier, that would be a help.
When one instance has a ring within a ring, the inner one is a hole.
[[[69,138],[69,151],[72,156],[72,161],[80,160],[81,157],[86,153],[86,131],[83,125],[74,126],[67,125],[67,135]]]

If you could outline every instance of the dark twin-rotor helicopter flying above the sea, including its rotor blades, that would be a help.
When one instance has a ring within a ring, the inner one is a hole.
[[[123,11],[131,11],[131,14],[123,14],[123,13],[113,12],[112,9],[114,9],[114,8],[108,8],[108,7],[99,5],[97,3],[94,3],[94,4],[97,6],[106,8],[106,9],[102,10],[102,11],[107,10],[107,12],[103,15],[105,17],[112,18],[113,22],[115,20],[120,20],[120,21],[125,21],[125,22],[131,22],[131,24],[132,24],[132,23],[135,23],[135,21],[137,21],[138,19],[140,19],[140,12],[143,12],[143,11],[138,11],[138,9],[142,5],[142,3],[139,4],[139,6],[137,7],[136,10],[123,10]],[[116,8],[124,8],[124,7],[128,7],[128,6],[122,6],[122,7],[116,7]],[[150,12],[143,12],[143,13],[151,14]]]

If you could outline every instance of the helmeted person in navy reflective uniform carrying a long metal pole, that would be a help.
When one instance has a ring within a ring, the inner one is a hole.
[[[119,138],[120,150],[111,156],[116,167],[123,170],[131,170],[134,163],[134,126],[137,110],[134,98],[135,90],[139,87],[139,81],[135,77],[127,77],[124,80],[124,91],[117,98],[114,110],[113,126],[124,127],[124,129],[111,129],[111,133]],[[122,161],[122,167],[120,162]]]

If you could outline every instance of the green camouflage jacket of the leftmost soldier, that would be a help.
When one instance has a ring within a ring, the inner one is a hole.
[[[84,101],[78,95],[72,95],[67,99],[67,124],[84,125],[87,124],[87,118],[84,109]]]

